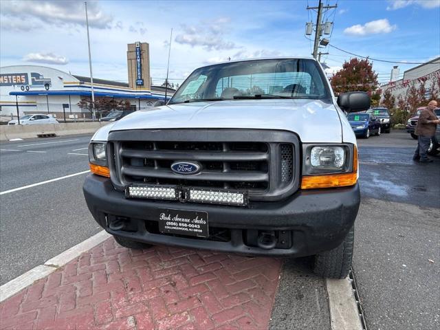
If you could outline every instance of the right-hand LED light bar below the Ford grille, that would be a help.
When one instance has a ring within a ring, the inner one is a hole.
[[[245,206],[248,202],[244,192],[223,192],[215,190],[188,189],[188,201],[201,203],[228,204]]]

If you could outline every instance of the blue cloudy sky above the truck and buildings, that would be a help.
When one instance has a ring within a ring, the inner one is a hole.
[[[440,0],[322,0],[338,5],[321,62],[336,72],[353,55],[423,63],[440,56]],[[151,77],[181,83],[203,65],[241,58],[311,56],[318,0],[296,1],[87,1],[94,77],[127,82],[126,44],[150,44]],[[89,76],[84,1],[0,0],[0,65],[45,65]],[[331,47],[335,46],[340,48]],[[380,83],[393,65],[373,61]]]

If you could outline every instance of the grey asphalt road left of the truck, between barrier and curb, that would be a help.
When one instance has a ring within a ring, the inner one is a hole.
[[[90,137],[1,143],[0,191],[88,170],[85,148]],[[0,284],[100,230],[83,197],[81,187],[86,175],[0,195]]]

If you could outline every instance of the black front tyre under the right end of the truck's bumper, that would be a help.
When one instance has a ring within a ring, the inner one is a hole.
[[[354,226],[337,248],[316,254],[314,273],[324,278],[346,278],[353,258]]]

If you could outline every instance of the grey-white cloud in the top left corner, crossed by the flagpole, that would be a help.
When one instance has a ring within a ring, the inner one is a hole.
[[[17,21],[26,21],[30,26],[36,19],[44,25],[85,25],[85,6],[83,1],[2,1],[1,14]],[[98,2],[87,1],[89,25],[93,28],[111,28],[113,17],[100,9]],[[32,28],[34,28],[32,26]]]

